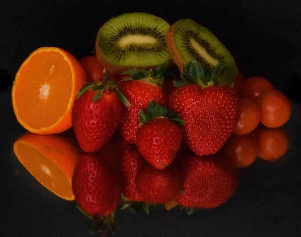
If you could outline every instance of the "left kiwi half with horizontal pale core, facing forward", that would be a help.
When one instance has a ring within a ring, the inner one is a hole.
[[[172,61],[166,34],[170,25],[147,13],[125,13],[107,21],[98,31],[96,55],[113,73],[151,69]]]

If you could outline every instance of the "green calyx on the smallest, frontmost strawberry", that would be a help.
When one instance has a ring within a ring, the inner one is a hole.
[[[140,110],[139,116],[142,124],[145,124],[152,118],[156,118],[156,117],[169,118],[171,121],[173,121],[178,125],[183,125],[185,123],[185,121],[180,119],[178,114],[172,111],[168,111],[166,107],[156,104],[154,100],[150,100],[146,112]]]

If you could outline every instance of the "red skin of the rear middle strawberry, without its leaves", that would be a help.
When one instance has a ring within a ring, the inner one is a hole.
[[[167,98],[162,87],[143,80],[121,82],[119,89],[131,105],[124,109],[120,131],[126,142],[136,143],[140,124],[139,111],[145,111],[152,99],[155,103],[166,106]]]

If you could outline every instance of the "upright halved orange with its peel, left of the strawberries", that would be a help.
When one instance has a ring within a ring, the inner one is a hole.
[[[56,47],[35,50],[19,68],[12,88],[18,122],[37,134],[54,134],[71,127],[76,93],[86,81],[80,63]]]

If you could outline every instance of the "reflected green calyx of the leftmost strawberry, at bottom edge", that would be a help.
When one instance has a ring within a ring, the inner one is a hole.
[[[77,206],[77,208],[82,212],[85,216],[89,217],[93,220],[93,231],[91,234],[96,234],[99,232],[105,232],[107,230],[111,230],[111,232],[114,231],[116,228],[116,221],[115,221],[115,214],[112,212],[111,214],[108,214],[106,216],[91,216],[87,214],[82,208]]]

